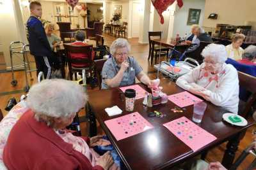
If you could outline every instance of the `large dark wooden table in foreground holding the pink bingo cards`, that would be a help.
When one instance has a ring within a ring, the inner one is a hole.
[[[140,85],[148,90],[144,85]],[[161,79],[161,86],[163,86],[163,91],[168,95],[184,91],[167,78]],[[253,125],[252,121],[249,121],[246,127],[235,127],[225,123],[222,121],[222,115],[223,113],[226,113],[226,111],[211,103],[207,103],[207,109],[200,127],[210,132],[218,139],[209,145],[204,146],[204,148],[193,152],[191,148],[182,143],[182,141],[176,138],[163,126],[164,123],[183,116],[191,120],[193,106],[186,107],[184,113],[173,113],[171,109],[175,104],[170,101],[166,104],[154,106],[153,108],[145,108],[142,104],[143,99],[138,99],[135,102],[134,111],[138,111],[145,119],[147,119],[148,122],[154,126],[154,129],[116,141],[113,134],[111,134],[108,127],[104,124],[104,121],[129,114],[129,112],[125,111],[124,95],[122,91],[118,88],[99,90],[88,92],[88,96],[92,108],[92,113],[90,113],[89,116],[90,122],[93,125],[96,124],[95,120],[93,120],[93,114],[95,114],[95,117],[99,121],[104,132],[106,132],[113,146],[115,146],[118,154],[124,161],[125,166],[127,166],[127,169],[167,169],[180,164],[195,155],[205,152],[214,146],[220,145],[225,141],[228,141],[228,145],[222,164],[228,168],[234,160],[241,137],[243,137],[246,129]],[[123,110],[122,115],[108,117],[108,114],[104,109],[115,105]],[[154,110],[161,111],[166,114],[166,117],[148,117],[147,113]],[[97,130],[94,129],[94,131]]]

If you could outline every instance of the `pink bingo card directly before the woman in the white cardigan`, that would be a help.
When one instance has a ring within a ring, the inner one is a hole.
[[[197,102],[201,102],[202,99],[190,94],[189,92],[181,92],[177,94],[173,94],[168,96],[168,99],[172,101],[172,103],[176,104],[180,108],[195,104]]]

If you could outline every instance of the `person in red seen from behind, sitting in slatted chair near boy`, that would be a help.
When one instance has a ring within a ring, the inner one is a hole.
[[[72,45],[77,46],[88,46],[87,43],[84,43],[85,34],[84,31],[77,31],[76,32],[76,41],[74,43],[71,43]],[[92,60],[94,59],[95,53],[92,51]],[[86,53],[70,53],[70,57],[72,59],[86,59],[88,58],[88,55]],[[72,64],[74,67],[86,67],[88,66],[87,63],[81,63],[81,64]]]

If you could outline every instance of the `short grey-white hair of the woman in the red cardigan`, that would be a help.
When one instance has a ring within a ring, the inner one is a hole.
[[[28,107],[35,115],[52,118],[69,118],[87,101],[83,87],[63,79],[43,80],[33,85],[27,99]]]

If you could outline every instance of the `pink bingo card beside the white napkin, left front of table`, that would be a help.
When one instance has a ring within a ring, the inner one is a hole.
[[[153,126],[140,113],[134,112],[123,117],[113,118],[104,122],[116,141],[134,136],[152,129]]]

